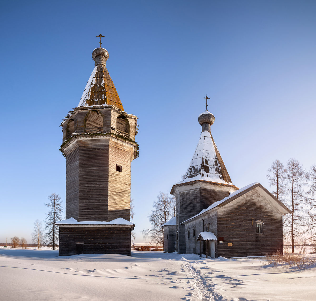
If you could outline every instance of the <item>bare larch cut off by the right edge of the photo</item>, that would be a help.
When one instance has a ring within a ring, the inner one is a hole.
[[[312,165],[306,175],[309,190],[307,191],[308,231],[310,238],[316,240],[316,165]]]

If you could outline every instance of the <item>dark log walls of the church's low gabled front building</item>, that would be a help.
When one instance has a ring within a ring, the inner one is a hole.
[[[218,239],[216,257],[258,256],[276,251],[282,253],[282,216],[289,213],[289,209],[266,192],[258,184],[233,200],[185,221],[185,232],[193,227],[196,233],[201,232],[204,220],[204,231],[207,225],[208,231],[213,232]],[[256,220],[264,222],[263,233],[257,233]],[[191,253],[195,248],[199,254],[199,246],[199,242],[186,239],[186,253]]]

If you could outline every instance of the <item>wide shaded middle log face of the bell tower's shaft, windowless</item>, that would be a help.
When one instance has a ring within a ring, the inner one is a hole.
[[[108,161],[110,138],[78,139],[78,221],[108,220]]]

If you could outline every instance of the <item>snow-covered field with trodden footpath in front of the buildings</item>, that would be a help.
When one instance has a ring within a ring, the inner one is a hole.
[[[316,267],[134,251],[58,257],[0,247],[1,300],[316,300]]]

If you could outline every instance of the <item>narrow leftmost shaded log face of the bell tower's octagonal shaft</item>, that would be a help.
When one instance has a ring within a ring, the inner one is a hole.
[[[78,219],[79,214],[79,147],[71,146],[66,160],[66,218]]]

